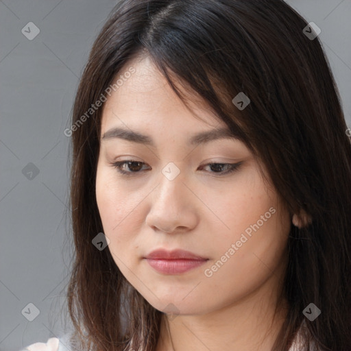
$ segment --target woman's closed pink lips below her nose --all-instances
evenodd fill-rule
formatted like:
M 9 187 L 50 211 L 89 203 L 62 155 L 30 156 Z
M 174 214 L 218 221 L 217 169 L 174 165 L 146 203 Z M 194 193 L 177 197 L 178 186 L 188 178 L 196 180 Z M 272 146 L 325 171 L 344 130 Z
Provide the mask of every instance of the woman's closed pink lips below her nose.
M 164 274 L 180 274 L 203 265 L 208 258 L 204 258 L 184 250 L 155 250 L 145 259 L 156 271 Z

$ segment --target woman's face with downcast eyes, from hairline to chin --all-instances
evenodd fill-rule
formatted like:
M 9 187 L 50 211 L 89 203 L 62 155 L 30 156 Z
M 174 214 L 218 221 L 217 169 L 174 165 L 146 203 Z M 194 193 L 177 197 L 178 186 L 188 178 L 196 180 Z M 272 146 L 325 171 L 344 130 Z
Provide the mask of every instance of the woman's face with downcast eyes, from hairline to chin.
M 108 97 L 101 121 L 96 196 L 105 250 L 166 313 L 209 313 L 276 291 L 291 217 L 258 162 L 237 139 L 204 136 L 226 124 L 198 99 L 191 108 L 202 120 L 195 118 L 148 58 L 121 74 L 131 66 L 135 72 Z M 147 258 L 158 249 L 203 259 Z

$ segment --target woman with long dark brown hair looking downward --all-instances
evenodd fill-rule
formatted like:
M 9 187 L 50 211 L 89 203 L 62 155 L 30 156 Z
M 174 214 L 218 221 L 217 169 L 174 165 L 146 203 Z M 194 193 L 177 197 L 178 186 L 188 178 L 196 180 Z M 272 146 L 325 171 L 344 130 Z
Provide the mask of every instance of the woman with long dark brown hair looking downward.
M 65 131 L 71 350 L 351 350 L 350 139 L 317 34 L 280 0 L 114 8 Z

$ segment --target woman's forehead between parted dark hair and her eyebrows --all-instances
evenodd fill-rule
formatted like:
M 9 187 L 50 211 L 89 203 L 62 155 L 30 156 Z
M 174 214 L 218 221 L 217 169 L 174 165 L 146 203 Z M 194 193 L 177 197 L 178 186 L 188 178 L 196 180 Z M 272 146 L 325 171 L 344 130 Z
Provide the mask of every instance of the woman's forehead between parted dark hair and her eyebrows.
M 125 74 L 131 70 L 133 73 Z M 126 120 L 144 126 L 164 123 L 167 127 L 169 121 L 177 121 L 183 125 L 186 123 L 186 128 L 226 127 L 204 99 L 181 88 L 187 108 L 148 56 L 127 62 L 113 82 L 117 80 L 121 85 L 112 90 L 104 104 L 101 132 Z M 180 86 L 178 82 L 175 83 Z

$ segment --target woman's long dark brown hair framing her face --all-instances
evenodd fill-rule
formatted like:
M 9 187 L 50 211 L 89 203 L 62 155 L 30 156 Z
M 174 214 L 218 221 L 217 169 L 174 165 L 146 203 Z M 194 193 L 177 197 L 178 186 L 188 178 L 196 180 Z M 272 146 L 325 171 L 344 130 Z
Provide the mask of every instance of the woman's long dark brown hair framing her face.
M 75 261 L 67 295 L 77 349 L 120 351 L 133 341 L 134 350 L 154 351 L 160 336 L 162 312 L 109 250 L 92 244 L 104 231 L 95 198 L 102 107 L 89 109 L 143 54 L 184 102 L 176 82 L 239 130 L 291 213 L 313 219 L 291 225 L 289 313 L 272 350 L 288 350 L 302 322 L 319 348 L 351 350 L 351 147 L 328 60 L 306 25 L 282 0 L 123 0 L 112 10 L 82 75 L 70 132 Z M 232 102 L 241 92 L 250 98 L 244 110 Z M 322 311 L 313 322 L 302 313 L 311 302 Z

